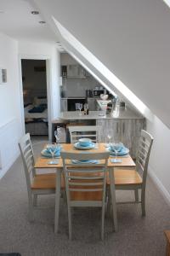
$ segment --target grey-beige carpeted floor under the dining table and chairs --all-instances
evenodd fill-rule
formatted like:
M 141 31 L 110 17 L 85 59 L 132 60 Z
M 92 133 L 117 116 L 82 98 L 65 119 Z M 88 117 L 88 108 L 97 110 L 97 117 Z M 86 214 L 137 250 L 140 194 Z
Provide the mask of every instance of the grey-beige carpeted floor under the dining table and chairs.
M 43 143 L 34 141 L 35 154 Z M 118 199 L 130 199 L 121 192 Z M 15 161 L 0 180 L 0 253 L 21 253 L 22 256 L 54 255 L 165 255 L 163 230 L 170 229 L 170 208 L 150 178 L 147 181 L 146 217 L 140 206 L 117 207 L 118 232 L 112 232 L 111 219 L 105 218 L 105 241 L 100 241 L 100 211 L 96 208 L 75 209 L 73 240 L 68 240 L 67 210 L 61 199 L 59 234 L 54 235 L 54 195 L 43 196 L 39 204 L 47 209 L 36 210 L 35 221 L 27 218 L 26 179 L 21 159 Z

